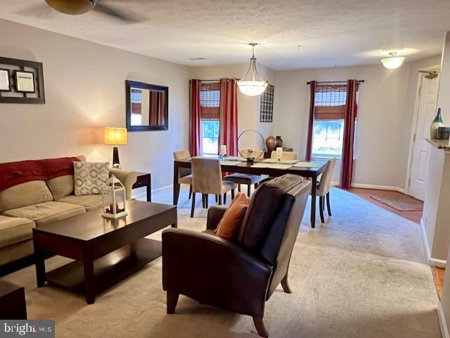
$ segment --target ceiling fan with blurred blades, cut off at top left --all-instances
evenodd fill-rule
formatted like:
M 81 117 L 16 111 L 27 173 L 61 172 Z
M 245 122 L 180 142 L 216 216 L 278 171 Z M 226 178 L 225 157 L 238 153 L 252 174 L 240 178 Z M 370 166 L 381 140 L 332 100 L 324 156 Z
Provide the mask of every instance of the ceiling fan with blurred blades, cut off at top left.
M 20 12 L 22 15 L 32 15 L 39 17 L 47 17 L 51 14 L 51 8 L 68 15 L 82 15 L 90 11 L 108 15 L 124 23 L 137 23 L 141 21 L 136 15 L 131 15 L 120 9 L 113 8 L 110 2 L 119 2 L 117 0 L 45 0 L 46 4 L 38 4 L 34 8 L 27 8 Z M 101 2 L 101 4 L 100 4 Z

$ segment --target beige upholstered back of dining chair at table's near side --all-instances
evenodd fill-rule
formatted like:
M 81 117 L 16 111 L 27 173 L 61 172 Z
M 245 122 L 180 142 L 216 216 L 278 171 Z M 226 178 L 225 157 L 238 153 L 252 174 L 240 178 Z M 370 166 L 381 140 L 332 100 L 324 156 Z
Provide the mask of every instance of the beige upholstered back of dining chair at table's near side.
M 193 157 L 192 191 L 202 194 L 221 194 L 222 170 L 217 158 Z

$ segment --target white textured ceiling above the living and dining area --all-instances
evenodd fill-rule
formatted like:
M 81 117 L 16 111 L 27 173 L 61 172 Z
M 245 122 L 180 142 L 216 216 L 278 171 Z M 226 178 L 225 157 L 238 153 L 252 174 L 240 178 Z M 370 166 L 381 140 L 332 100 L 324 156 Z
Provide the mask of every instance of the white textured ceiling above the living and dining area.
M 141 15 L 133 25 L 0 3 L 6 20 L 193 66 L 248 62 L 248 42 L 276 70 L 373 64 L 394 47 L 413 61 L 439 54 L 450 30 L 449 0 L 101 0 Z

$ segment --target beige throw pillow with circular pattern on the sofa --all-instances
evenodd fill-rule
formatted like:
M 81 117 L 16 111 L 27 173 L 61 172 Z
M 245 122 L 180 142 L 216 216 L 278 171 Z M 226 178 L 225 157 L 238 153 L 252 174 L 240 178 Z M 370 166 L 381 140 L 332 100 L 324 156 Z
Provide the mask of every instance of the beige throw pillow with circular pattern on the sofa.
M 74 162 L 75 195 L 101 194 L 101 188 L 109 178 L 108 162 Z

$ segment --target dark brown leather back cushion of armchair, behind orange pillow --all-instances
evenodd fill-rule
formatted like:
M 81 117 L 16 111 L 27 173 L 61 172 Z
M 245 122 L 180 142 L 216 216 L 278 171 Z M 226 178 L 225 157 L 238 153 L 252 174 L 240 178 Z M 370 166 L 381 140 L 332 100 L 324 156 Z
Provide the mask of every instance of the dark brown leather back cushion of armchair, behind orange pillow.
M 238 242 L 250 250 L 261 249 L 276 215 L 281 210 L 285 194 L 303 178 L 286 174 L 263 183 L 250 200 L 240 227 Z

